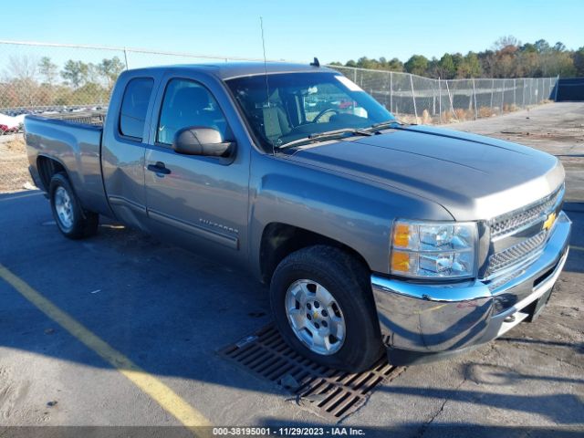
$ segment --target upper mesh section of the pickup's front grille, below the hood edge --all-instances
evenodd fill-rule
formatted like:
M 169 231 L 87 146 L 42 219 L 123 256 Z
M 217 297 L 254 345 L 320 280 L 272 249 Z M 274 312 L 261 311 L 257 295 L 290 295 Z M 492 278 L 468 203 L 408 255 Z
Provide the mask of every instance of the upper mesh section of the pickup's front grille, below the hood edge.
M 495 217 L 489 223 L 491 228 L 491 238 L 501 238 L 505 235 L 512 235 L 517 231 L 527 228 L 531 224 L 537 223 L 542 216 L 554 209 L 554 206 L 561 201 L 564 195 L 564 185 L 542 200 L 522 208 L 519 211 L 503 214 Z

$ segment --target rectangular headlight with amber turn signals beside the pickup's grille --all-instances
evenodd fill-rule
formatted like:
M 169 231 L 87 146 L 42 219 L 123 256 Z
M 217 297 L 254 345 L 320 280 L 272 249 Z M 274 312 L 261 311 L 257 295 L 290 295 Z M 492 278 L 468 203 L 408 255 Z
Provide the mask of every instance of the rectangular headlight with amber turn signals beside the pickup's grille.
M 391 234 L 391 274 L 416 278 L 474 276 L 474 222 L 398 220 Z

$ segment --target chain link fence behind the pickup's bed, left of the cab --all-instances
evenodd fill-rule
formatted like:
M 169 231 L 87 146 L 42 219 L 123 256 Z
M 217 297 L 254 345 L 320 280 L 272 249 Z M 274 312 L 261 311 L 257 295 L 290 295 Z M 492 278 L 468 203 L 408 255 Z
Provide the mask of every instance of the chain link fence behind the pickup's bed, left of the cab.
M 21 134 L 26 114 L 106 110 L 126 68 L 238 60 L 261 59 L 0 41 L 0 193 L 32 184 Z

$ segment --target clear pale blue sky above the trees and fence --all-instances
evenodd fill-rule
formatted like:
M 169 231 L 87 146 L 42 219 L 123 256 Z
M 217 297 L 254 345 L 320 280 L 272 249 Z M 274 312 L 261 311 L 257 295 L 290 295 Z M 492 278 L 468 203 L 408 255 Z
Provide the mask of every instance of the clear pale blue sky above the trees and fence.
M 480 51 L 500 36 L 584 46 L 582 0 L 26 0 L 0 39 L 322 63 Z M 1 50 L 1 47 L 0 47 Z

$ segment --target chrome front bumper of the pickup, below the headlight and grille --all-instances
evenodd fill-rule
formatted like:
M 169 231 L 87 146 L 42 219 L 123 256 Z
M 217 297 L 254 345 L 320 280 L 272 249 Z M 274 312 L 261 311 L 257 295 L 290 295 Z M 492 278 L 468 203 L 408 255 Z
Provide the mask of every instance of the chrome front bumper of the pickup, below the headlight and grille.
M 450 285 L 371 276 L 381 333 L 391 349 L 454 352 L 495 339 L 530 316 L 568 257 L 571 222 L 558 214 L 544 252 L 531 265 L 492 281 Z M 515 318 L 510 318 L 515 317 Z

